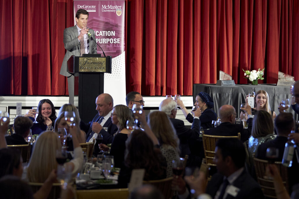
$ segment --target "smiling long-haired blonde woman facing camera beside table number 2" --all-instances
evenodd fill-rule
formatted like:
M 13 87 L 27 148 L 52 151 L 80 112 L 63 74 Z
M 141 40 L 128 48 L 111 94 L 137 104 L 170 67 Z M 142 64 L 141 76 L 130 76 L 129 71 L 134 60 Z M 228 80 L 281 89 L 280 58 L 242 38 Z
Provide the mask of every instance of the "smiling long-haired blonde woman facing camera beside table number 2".
M 246 99 L 245 99 L 246 104 L 248 103 L 247 97 L 248 96 L 246 96 Z M 264 90 L 257 91 L 257 93 L 254 97 L 254 108 L 251 109 L 252 115 L 255 115 L 256 112 L 259 110 L 267 111 L 272 116 L 272 119 L 276 118 L 276 113 L 274 111 L 271 111 L 271 109 L 270 109 L 269 95 Z M 244 116 L 245 116 L 245 119 L 247 119 L 247 114 L 243 115 L 243 113 L 241 112 L 241 114 L 240 114 L 241 120 L 244 118 Z

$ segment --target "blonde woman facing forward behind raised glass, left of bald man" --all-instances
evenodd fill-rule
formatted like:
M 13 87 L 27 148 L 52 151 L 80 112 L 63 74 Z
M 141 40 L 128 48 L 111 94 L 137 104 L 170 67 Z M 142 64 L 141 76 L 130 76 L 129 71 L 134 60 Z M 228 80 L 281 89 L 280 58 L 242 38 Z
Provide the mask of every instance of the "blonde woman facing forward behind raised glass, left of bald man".
M 75 123 L 75 129 L 76 129 L 76 135 L 78 138 L 79 143 L 86 143 L 86 134 L 84 131 L 82 131 L 80 129 L 80 116 L 79 116 L 79 111 L 78 109 L 73 105 L 73 104 L 64 104 L 58 112 L 58 117 L 55 121 L 54 124 L 54 131 L 58 132 L 58 128 L 65 128 L 66 131 L 69 131 L 69 126 L 66 123 L 65 119 L 64 119 L 64 112 L 65 111 L 72 111 L 75 113 L 75 118 L 74 118 L 74 123 Z

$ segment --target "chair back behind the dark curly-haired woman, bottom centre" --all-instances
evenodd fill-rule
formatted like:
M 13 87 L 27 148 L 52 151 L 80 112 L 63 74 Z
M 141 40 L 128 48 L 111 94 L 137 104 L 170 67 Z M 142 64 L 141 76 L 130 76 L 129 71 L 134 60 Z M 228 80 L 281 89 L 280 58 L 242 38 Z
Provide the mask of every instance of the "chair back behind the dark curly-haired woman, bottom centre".
M 171 189 L 172 179 L 173 177 L 161 180 L 143 181 L 143 184 L 151 184 L 152 186 L 157 187 L 157 189 L 160 190 L 164 198 L 169 199 L 173 196 L 173 190 Z

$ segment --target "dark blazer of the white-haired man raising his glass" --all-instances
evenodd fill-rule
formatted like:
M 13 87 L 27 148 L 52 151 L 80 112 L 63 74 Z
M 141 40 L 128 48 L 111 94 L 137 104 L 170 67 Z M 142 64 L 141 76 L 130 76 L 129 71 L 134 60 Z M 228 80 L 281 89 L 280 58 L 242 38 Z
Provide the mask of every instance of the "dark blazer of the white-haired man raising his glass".
M 185 127 L 184 121 L 182 120 L 170 118 L 170 121 L 176 129 L 176 135 L 180 140 L 180 156 L 184 157 L 185 155 L 189 155 L 191 152 L 188 140 L 196 140 L 199 138 L 200 120 L 194 119 L 191 129 Z

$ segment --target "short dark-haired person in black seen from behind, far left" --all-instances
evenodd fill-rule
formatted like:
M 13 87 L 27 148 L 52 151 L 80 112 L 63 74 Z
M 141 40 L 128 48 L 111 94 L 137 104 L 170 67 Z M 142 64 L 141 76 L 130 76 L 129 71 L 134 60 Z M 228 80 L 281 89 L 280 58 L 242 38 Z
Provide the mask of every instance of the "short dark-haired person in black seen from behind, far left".
M 15 133 L 6 136 L 7 145 L 21 145 L 28 144 L 24 138 L 30 133 L 30 128 L 33 126 L 32 121 L 28 117 L 18 116 L 13 122 Z

